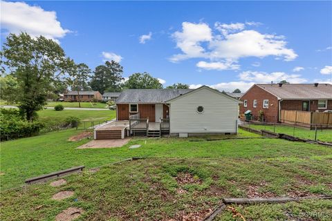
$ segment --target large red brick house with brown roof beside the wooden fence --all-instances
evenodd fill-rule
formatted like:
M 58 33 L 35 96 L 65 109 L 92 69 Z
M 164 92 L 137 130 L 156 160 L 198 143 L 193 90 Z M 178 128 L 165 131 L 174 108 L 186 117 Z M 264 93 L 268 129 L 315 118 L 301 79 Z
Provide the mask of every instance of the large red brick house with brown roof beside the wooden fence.
M 250 110 L 258 119 L 263 111 L 264 121 L 279 122 L 281 110 L 332 110 L 332 84 L 254 84 L 240 99 L 240 114 Z

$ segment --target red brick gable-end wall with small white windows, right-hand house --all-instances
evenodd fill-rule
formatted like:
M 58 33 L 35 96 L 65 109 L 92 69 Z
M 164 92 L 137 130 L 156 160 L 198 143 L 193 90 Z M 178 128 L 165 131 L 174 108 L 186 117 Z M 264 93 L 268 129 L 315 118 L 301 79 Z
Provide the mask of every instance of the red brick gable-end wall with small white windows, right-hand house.
M 254 119 L 258 119 L 258 112 L 263 111 L 266 122 L 278 121 L 278 99 L 274 95 L 271 95 L 266 90 L 259 88 L 259 86 L 253 86 L 248 90 L 246 95 L 241 97 L 241 101 L 247 100 L 247 107 L 240 104 L 240 114 L 245 113 L 247 110 L 252 111 Z M 257 108 L 253 107 L 254 99 L 257 100 Z M 268 99 L 268 108 L 263 108 L 263 100 Z

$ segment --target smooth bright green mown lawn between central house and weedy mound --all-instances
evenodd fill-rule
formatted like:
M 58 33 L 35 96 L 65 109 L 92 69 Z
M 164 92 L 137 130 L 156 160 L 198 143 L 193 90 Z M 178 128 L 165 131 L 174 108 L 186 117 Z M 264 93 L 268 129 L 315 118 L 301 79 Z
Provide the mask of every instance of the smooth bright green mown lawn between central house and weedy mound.
M 28 177 L 43 175 L 73 166 L 84 165 L 87 169 L 109 164 L 128 157 L 229 157 L 268 159 L 273 157 L 331 156 L 332 149 L 301 142 L 279 139 L 248 139 L 190 142 L 192 138 L 134 138 L 121 148 L 76 149 L 89 142 L 68 142 L 68 137 L 82 133 L 66 130 L 22 138 L 1 143 L 1 188 L 8 189 L 24 183 Z M 242 130 L 234 137 L 248 136 Z M 140 148 L 129 149 L 133 144 Z M 323 162 L 329 160 L 322 158 Z M 331 162 L 331 161 L 329 161 Z

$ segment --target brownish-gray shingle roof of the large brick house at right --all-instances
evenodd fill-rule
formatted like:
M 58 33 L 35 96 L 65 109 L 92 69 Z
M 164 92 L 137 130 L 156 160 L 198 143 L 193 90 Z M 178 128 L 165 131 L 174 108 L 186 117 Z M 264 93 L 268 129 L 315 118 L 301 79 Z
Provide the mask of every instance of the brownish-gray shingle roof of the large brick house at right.
M 332 99 L 332 84 L 257 84 L 280 99 Z

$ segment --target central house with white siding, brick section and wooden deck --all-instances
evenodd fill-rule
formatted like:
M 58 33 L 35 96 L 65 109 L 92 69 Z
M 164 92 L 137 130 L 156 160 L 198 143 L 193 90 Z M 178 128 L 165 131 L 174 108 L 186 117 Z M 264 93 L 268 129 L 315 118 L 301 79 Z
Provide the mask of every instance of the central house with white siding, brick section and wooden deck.
M 116 99 L 116 121 L 96 128 L 95 139 L 234 134 L 239 104 L 238 99 L 208 86 L 128 89 Z

